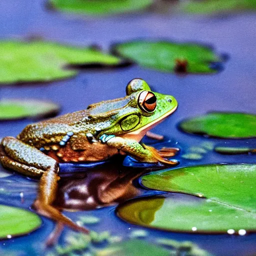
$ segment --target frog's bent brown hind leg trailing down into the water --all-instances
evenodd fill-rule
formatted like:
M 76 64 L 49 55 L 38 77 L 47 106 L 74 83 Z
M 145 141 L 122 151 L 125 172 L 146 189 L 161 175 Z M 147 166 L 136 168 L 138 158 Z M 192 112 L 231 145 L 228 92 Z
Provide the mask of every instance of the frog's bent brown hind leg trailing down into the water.
M 58 163 L 53 158 L 14 137 L 4 137 L 0 141 L 0 162 L 4 167 L 24 175 L 41 176 L 38 195 L 33 203 L 39 214 L 60 221 L 74 230 L 88 232 L 86 228 L 76 225 L 51 205 L 59 180 Z

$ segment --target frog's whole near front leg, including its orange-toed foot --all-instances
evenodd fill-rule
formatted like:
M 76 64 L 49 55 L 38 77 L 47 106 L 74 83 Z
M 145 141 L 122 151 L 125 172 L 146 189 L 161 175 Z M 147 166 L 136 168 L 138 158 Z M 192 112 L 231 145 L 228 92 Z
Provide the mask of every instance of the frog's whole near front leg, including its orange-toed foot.
M 135 159 L 143 162 L 162 162 L 166 164 L 177 164 L 177 160 L 166 160 L 163 157 L 174 155 L 173 152 L 171 154 L 164 153 L 161 154 L 160 151 L 155 149 L 152 146 L 141 145 L 136 140 L 133 139 L 125 139 L 122 137 L 116 137 L 114 135 L 102 135 L 100 140 L 103 143 L 106 143 L 108 146 L 115 147 L 131 156 Z

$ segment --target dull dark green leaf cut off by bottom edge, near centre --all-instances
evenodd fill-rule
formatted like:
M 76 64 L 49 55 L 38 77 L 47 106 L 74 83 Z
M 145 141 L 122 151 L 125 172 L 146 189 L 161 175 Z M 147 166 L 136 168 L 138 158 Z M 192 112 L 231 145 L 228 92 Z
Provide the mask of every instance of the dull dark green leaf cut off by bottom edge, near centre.
M 97 256 L 168 256 L 168 250 L 143 240 L 132 239 L 113 243 L 105 249 L 98 250 Z

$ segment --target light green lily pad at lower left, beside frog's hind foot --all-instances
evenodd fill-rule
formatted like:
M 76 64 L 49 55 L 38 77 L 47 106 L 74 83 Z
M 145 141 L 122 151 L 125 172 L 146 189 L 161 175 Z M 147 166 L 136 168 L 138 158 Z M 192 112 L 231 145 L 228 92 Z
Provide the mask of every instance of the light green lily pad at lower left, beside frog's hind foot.
M 0 204 L 0 239 L 30 233 L 40 225 L 41 219 L 35 213 Z

